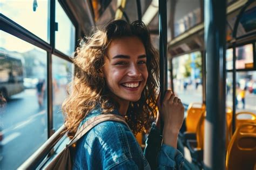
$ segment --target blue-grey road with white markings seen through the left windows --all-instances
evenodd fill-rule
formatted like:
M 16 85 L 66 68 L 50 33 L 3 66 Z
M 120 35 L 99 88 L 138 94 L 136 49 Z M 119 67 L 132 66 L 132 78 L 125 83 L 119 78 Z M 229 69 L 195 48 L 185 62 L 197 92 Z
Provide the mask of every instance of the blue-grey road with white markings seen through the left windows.
M 55 126 L 63 123 L 53 114 Z M 59 119 L 59 120 L 56 120 Z M 35 89 L 12 96 L 1 113 L 0 169 L 17 169 L 48 138 L 46 105 L 39 108 Z

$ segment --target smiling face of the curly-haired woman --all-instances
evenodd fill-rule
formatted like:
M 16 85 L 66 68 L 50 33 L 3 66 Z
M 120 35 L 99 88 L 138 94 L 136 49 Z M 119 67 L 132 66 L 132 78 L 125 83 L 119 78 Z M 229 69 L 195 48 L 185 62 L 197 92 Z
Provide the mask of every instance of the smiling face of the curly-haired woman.
M 138 37 L 113 39 L 104 57 L 107 87 L 119 104 L 138 101 L 147 81 L 146 51 Z

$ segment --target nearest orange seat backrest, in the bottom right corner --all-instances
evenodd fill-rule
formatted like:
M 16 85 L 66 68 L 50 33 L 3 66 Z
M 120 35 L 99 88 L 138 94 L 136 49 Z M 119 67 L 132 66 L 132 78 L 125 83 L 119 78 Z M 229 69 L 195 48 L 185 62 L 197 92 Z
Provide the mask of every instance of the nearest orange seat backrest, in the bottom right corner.
M 253 127 L 253 132 L 244 132 Z M 235 130 L 226 154 L 226 169 L 253 169 L 256 162 L 256 124 L 242 124 Z

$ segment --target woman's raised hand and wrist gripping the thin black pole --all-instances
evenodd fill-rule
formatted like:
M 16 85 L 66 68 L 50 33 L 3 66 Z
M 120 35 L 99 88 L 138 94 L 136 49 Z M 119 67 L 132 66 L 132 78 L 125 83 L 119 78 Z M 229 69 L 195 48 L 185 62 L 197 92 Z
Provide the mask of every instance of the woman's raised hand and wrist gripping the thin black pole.
M 163 138 L 164 144 L 177 147 L 177 138 L 179 130 L 184 120 L 184 106 L 181 100 L 173 94 L 171 90 L 167 90 L 160 104 L 158 97 L 157 127 L 160 127 L 160 117 L 164 120 Z

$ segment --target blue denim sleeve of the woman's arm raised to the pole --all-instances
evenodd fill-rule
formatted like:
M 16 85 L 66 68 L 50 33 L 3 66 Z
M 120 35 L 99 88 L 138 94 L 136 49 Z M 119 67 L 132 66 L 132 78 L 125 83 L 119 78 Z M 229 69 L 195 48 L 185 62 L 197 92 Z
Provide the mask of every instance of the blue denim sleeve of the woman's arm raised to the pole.
M 153 123 L 146 140 L 144 155 L 151 169 L 181 169 L 184 164 L 183 155 L 168 145 L 161 145 L 160 130 Z

